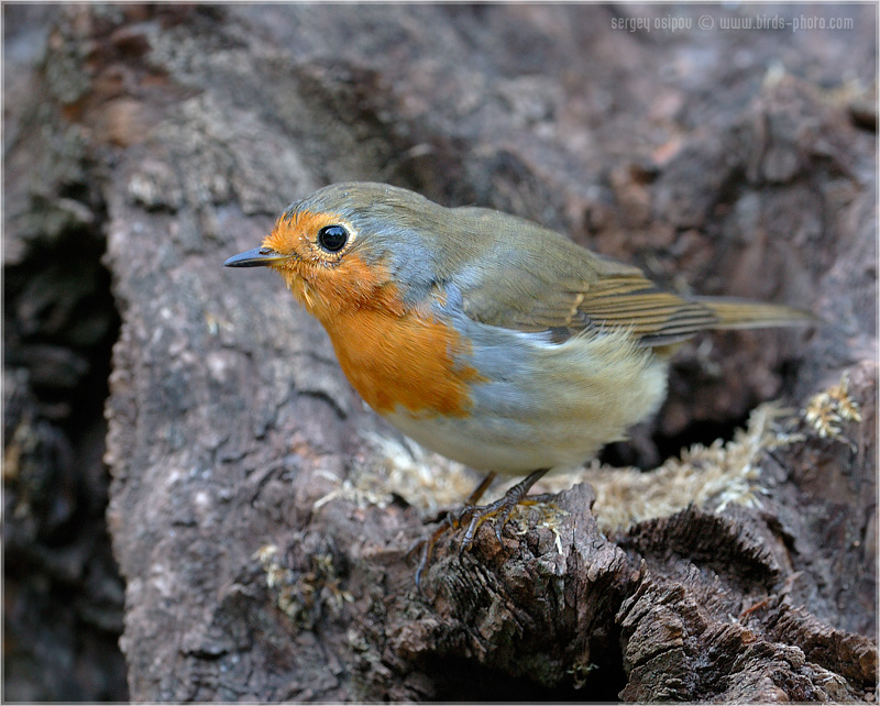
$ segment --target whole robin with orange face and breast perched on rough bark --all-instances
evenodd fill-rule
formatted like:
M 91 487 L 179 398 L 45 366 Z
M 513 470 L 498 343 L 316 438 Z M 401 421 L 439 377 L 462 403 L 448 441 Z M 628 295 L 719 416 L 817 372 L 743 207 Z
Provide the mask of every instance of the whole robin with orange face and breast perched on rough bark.
M 548 471 L 574 467 L 653 415 L 676 346 L 706 329 L 806 324 L 792 307 L 686 298 L 527 220 L 444 208 L 385 184 L 292 203 L 228 267 L 271 267 L 323 324 L 352 386 L 420 444 L 487 473 L 424 542 L 501 530 Z M 497 473 L 526 475 L 477 506 Z

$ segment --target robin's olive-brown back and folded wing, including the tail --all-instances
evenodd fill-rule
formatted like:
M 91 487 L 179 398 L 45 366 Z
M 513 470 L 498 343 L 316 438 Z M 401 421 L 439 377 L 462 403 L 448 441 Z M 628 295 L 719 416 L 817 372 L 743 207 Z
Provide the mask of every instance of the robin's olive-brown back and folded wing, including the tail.
M 706 329 L 791 326 L 815 318 L 791 307 L 689 299 L 660 289 L 638 267 L 592 253 L 558 233 L 507 217 L 519 246 L 503 246 L 497 214 L 463 209 L 497 249 L 458 271 L 464 312 L 476 321 L 519 331 L 548 331 L 562 341 L 583 331 L 619 328 L 640 345 L 662 346 Z

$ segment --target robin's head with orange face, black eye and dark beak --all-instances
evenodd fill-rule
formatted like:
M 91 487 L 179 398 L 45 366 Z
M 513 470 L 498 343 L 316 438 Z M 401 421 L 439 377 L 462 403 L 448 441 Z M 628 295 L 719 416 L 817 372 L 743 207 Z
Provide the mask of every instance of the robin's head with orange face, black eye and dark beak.
M 322 321 L 361 307 L 405 308 L 436 279 L 425 234 L 437 232 L 441 211 L 385 184 L 336 184 L 292 203 L 260 247 L 224 265 L 271 267 Z

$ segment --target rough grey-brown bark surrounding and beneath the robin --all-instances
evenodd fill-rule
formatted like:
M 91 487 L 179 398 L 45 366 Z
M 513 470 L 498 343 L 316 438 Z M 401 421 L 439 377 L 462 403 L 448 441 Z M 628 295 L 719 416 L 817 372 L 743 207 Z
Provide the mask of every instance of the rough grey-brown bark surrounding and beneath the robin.
M 876 13 L 722 31 L 756 10 L 4 5 L 7 696 L 872 701 Z M 604 456 L 649 468 L 781 398 L 759 501 L 613 531 L 578 484 L 503 545 L 444 538 L 417 595 L 432 514 L 363 478 L 426 462 L 380 451 L 405 446 L 279 279 L 220 266 L 351 179 L 822 316 L 689 343 Z

